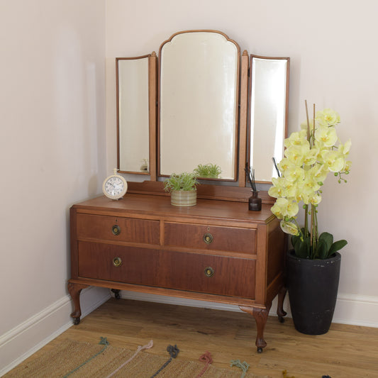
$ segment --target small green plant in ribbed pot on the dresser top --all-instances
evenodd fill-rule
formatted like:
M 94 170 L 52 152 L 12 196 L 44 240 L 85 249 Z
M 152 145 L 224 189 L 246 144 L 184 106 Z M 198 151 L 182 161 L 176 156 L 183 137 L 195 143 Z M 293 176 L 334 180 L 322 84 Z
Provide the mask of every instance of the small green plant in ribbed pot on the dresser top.
M 171 204 L 174 206 L 194 206 L 197 203 L 196 175 L 194 172 L 172 173 L 165 180 L 164 189 L 171 194 Z

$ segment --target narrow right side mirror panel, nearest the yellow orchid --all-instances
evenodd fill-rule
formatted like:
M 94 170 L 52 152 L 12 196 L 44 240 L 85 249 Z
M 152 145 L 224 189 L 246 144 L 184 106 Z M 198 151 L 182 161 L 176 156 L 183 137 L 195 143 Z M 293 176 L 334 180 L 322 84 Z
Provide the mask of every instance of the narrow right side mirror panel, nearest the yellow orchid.
M 250 67 L 250 165 L 257 182 L 271 182 L 277 177 L 272 158 L 284 156 L 289 58 L 251 55 Z

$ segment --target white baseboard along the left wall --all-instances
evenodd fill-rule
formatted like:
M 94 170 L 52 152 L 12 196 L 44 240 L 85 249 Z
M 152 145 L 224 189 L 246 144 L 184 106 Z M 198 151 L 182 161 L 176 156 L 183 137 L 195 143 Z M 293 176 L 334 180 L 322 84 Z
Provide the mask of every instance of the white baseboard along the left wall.
M 110 298 L 109 289 L 89 287 L 80 294 L 82 318 Z M 69 295 L 0 336 L 0 377 L 72 326 Z

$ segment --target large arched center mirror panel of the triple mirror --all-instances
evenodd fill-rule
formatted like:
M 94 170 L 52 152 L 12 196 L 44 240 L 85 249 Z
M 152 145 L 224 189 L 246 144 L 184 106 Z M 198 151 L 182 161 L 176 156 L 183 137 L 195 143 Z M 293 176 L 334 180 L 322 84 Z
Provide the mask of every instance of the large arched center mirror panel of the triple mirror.
M 238 45 L 223 33 L 195 30 L 172 35 L 159 55 L 160 176 L 196 170 L 235 181 Z M 209 165 L 218 172 L 209 174 Z

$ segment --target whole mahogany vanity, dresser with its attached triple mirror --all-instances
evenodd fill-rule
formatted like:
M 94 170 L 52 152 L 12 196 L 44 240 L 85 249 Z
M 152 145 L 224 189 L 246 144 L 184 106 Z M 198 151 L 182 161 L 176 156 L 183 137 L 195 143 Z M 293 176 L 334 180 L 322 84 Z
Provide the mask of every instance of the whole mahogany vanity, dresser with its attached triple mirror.
M 286 315 L 287 243 L 267 192 L 261 211 L 248 210 L 244 169 L 271 182 L 272 157 L 282 159 L 289 57 L 240 55 L 216 30 L 175 33 L 158 55 L 116 58 L 117 168 L 148 177 L 119 201 L 72 206 L 71 315 L 78 324 L 89 286 L 233 304 L 254 316 L 262 352 L 277 294 Z M 196 206 L 172 206 L 162 179 L 208 163 L 221 174 L 196 173 L 206 180 Z

